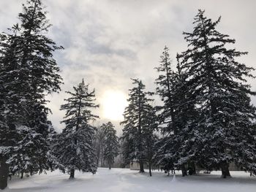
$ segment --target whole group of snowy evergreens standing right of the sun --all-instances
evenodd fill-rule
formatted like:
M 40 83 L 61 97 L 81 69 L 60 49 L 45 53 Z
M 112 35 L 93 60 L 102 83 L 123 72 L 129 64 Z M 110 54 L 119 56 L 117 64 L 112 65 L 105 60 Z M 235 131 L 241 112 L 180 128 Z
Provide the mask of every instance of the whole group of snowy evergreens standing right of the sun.
M 255 92 L 246 83 L 253 68 L 236 60 L 246 52 L 230 48 L 235 39 L 217 31 L 219 21 L 199 10 L 194 31 L 184 33 L 188 49 L 177 55 L 176 69 L 165 47 L 156 80 L 162 106 L 151 107 L 147 96 L 152 93 L 133 80 L 136 86 L 121 123 L 123 153 L 128 162 L 140 164 L 140 172 L 143 163 L 150 167 L 153 160 L 167 172 L 181 169 L 183 175 L 200 167 L 221 169 L 227 177 L 231 162 L 256 174 L 256 108 L 250 103 Z M 157 127 L 161 135 L 151 146 Z

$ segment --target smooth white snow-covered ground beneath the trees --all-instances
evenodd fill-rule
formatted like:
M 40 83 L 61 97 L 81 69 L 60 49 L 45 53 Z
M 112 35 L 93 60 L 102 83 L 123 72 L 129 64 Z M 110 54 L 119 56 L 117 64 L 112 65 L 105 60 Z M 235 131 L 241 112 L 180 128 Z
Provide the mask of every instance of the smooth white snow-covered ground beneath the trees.
M 69 180 L 69 175 L 59 171 L 48 174 L 25 177 L 23 180 L 13 178 L 9 188 L 5 191 L 29 192 L 80 192 L 80 191 L 256 191 L 256 177 L 249 177 L 244 172 L 231 172 L 231 178 L 220 178 L 220 172 L 211 174 L 198 174 L 196 176 L 181 177 L 178 172 L 176 177 L 167 177 L 164 172 L 153 172 L 153 177 L 148 173 L 140 174 L 129 169 L 104 169 L 99 168 L 97 174 L 75 172 L 75 180 Z

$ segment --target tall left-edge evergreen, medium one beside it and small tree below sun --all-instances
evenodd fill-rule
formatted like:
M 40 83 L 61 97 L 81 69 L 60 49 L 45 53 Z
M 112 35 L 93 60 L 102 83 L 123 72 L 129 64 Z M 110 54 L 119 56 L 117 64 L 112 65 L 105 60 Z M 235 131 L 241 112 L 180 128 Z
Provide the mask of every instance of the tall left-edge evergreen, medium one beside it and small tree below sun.
M 48 114 L 45 96 L 60 91 L 59 66 L 53 52 L 63 49 L 45 36 L 50 24 L 40 0 L 23 4 L 19 24 L 10 33 L 0 34 L 0 188 L 7 187 L 7 177 L 32 175 L 45 170 L 61 169 L 97 171 L 94 138 L 96 128 L 90 121 L 94 91 L 82 81 L 61 110 L 66 127 L 56 134 Z M 113 125 L 105 126 L 105 158 L 109 167 L 118 152 Z

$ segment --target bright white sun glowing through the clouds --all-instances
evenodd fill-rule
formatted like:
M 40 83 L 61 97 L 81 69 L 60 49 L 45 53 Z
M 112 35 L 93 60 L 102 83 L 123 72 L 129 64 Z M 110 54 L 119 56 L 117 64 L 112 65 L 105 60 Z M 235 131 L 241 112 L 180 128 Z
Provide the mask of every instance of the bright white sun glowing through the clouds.
M 123 120 L 127 98 L 121 91 L 105 91 L 102 96 L 103 117 L 109 120 Z

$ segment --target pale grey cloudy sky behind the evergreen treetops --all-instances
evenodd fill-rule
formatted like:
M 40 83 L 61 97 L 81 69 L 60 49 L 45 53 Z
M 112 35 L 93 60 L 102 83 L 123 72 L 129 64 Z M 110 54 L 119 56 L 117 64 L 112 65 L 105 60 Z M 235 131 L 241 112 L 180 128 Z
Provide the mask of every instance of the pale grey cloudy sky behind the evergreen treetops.
M 24 2 L 0 1 L 0 31 L 7 31 L 18 22 Z M 105 115 L 106 107 L 111 108 L 111 102 L 118 106 L 125 104 L 132 88 L 130 78 L 143 80 L 148 91 L 155 91 L 154 67 L 159 65 L 163 48 L 169 47 L 175 67 L 176 53 L 187 49 L 182 32 L 192 32 L 197 9 L 205 9 L 206 16 L 213 20 L 221 15 L 217 30 L 236 39 L 237 50 L 249 52 L 239 61 L 255 66 L 255 0 L 42 0 L 42 3 L 53 24 L 47 35 L 64 47 L 53 53 L 64 85 L 60 93 L 48 96 L 48 107 L 53 112 L 50 120 L 57 131 L 64 127 L 59 123 L 64 117 L 59 108 L 67 98 L 64 91 L 72 91 L 72 86 L 84 78 L 89 88 L 95 88 L 96 102 L 100 105 L 95 110 L 100 120 L 94 126 L 111 120 L 121 133 L 120 107 L 116 110 L 118 120 Z M 256 91 L 256 80 L 248 81 Z M 252 103 L 256 105 L 256 98 L 252 98 Z

